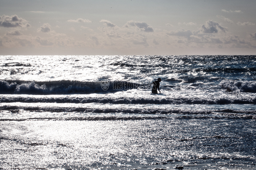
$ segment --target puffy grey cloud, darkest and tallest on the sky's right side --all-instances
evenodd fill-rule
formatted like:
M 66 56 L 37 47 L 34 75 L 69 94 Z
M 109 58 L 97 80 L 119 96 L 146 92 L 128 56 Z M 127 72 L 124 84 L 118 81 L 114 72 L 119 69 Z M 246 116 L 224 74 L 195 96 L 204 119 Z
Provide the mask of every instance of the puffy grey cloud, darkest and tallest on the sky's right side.
M 207 21 L 206 25 L 202 25 L 202 32 L 206 34 L 218 33 L 219 30 L 226 32 L 227 28 L 222 27 L 219 23 L 212 20 Z

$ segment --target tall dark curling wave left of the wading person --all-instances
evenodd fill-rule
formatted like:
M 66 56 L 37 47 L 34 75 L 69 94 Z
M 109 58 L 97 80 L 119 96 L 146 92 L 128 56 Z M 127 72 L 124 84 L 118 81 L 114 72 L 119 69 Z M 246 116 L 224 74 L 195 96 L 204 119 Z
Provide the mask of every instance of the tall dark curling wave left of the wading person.
M 0 94 L 84 94 L 128 90 L 142 86 L 144 85 L 126 81 L 82 82 L 59 80 L 36 82 L 0 80 Z

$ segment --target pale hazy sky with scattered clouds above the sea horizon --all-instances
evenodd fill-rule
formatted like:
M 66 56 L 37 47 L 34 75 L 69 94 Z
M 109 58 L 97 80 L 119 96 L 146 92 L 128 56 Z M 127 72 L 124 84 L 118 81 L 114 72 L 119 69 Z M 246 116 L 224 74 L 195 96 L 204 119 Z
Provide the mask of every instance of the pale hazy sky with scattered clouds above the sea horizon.
M 256 55 L 255 0 L 0 0 L 0 55 Z

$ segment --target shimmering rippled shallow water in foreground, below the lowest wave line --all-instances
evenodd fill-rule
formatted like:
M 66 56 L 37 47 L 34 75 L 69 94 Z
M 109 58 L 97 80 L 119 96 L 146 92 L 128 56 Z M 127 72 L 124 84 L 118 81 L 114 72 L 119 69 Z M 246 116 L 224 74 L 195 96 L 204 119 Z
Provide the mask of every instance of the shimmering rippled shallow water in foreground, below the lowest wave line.
M 97 118 L 2 122 L 1 134 L 8 136 L 0 144 L 2 167 L 255 167 L 254 120 L 175 114 Z

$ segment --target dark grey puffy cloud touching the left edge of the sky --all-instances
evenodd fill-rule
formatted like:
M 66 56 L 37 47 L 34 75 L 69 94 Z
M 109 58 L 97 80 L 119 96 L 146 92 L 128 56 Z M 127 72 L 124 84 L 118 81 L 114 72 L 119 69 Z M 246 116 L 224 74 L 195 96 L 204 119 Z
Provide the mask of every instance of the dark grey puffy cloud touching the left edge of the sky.
M 11 27 L 30 27 L 31 25 L 27 20 L 19 18 L 17 15 L 2 15 L 0 16 L 0 26 Z

